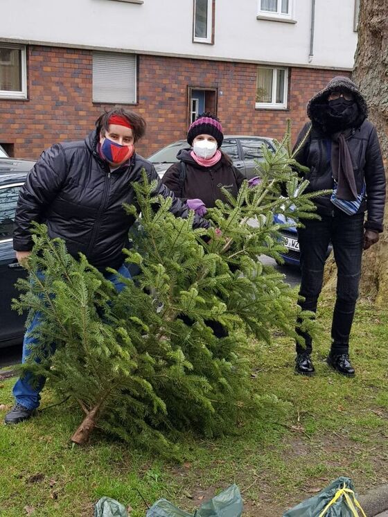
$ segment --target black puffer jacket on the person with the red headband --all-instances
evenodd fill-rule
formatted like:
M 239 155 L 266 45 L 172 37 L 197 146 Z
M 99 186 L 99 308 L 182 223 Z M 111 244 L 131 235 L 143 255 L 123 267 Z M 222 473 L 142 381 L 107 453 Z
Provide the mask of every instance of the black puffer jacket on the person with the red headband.
M 48 235 L 63 238 L 71 255 L 82 252 L 100 271 L 119 268 L 134 223 L 123 203 L 136 204 L 132 182 L 141 181 L 143 168 L 149 180 L 158 180 L 155 194 L 173 198 L 171 212 L 188 215 L 186 205 L 161 184 L 149 161 L 134 154 L 129 164 L 111 172 L 98 155 L 97 142 L 94 131 L 85 141 L 57 143 L 42 152 L 19 194 L 15 250 L 32 249 L 30 224 L 44 222 Z M 209 222 L 195 218 L 195 226 L 208 227 Z

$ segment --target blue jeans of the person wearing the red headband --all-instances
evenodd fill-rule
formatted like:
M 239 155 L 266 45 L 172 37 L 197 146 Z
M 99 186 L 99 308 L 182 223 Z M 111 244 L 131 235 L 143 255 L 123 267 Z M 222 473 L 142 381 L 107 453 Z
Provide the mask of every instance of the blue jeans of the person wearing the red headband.
M 130 272 L 127 269 L 127 266 L 124 264 L 121 265 L 117 272 L 122 277 L 127 279 L 132 278 Z M 113 283 L 117 292 L 121 292 L 123 288 L 125 288 L 125 283 L 123 283 L 116 274 L 107 273 L 105 274 L 105 278 Z M 33 322 L 31 322 L 30 326 L 26 330 L 26 333 L 24 334 L 23 356 L 21 362 L 26 362 L 34 345 L 37 344 L 37 338 L 31 336 L 30 333 L 37 325 L 39 325 L 39 320 L 41 318 L 42 314 L 39 312 L 36 313 Z M 51 351 L 55 351 L 55 347 L 52 347 Z M 15 396 L 15 401 L 23 405 L 24 408 L 27 408 L 28 410 L 34 410 L 39 406 L 40 392 L 42 391 L 44 383 L 46 382 L 44 377 L 39 377 L 37 379 L 36 385 L 34 384 L 35 387 L 33 387 L 30 385 L 31 378 L 32 374 L 27 372 L 22 378 L 17 380 L 12 390 L 13 396 Z

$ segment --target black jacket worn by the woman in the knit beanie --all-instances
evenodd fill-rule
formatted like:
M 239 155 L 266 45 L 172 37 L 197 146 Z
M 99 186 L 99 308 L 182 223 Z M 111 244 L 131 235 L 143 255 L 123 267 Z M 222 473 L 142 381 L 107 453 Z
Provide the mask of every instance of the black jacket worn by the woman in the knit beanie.
M 168 189 L 172 190 L 182 200 L 200 199 L 205 207 L 215 207 L 215 200 L 224 201 L 221 189 L 227 189 L 235 196 L 243 183 L 245 176 L 222 155 L 220 161 L 212 167 L 202 167 L 191 157 L 191 149 L 182 149 L 177 154 L 179 161 L 166 170 L 161 180 Z M 180 161 L 186 164 L 186 177 L 183 189 L 179 182 L 181 173 Z

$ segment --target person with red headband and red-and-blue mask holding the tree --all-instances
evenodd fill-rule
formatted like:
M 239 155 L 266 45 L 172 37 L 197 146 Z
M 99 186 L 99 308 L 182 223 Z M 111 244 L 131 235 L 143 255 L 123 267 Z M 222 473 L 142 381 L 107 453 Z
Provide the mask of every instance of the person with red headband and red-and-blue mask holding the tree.
M 85 254 L 116 290 L 123 289 L 117 275 L 107 273 L 106 268 L 131 277 L 122 250 L 129 244 L 134 218 L 125 212 L 123 203 L 136 205 L 132 182 L 142 181 L 143 169 L 149 181 L 157 180 L 155 195 L 173 198 L 170 211 L 188 216 L 186 204 L 161 184 L 154 166 L 134 151 L 144 132 L 141 116 L 116 108 L 98 118 L 96 130 L 85 141 L 57 143 L 42 153 L 17 204 L 13 245 L 19 262 L 27 260 L 33 248 L 31 222 L 44 222 L 48 235 L 64 239 L 72 256 Z M 209 222 L 195 216 L 194 226 L 209 227 Z M 31 331 L 38 324 L 39 314 L 26 331 L 23 360 L 36 342 Z M 6 423 L 18 423 L 33 414 L 43 385 L 44 379 L 38 385 L 30 383 L 29 375 L 17 380 L 13 389 L 16 405 L 6 415 Z

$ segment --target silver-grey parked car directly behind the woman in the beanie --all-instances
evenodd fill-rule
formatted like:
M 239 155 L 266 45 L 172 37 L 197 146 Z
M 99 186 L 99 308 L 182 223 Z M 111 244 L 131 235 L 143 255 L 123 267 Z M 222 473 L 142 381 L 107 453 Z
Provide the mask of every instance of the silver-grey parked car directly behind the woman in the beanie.
M 263 159 L 263 146 L 275 150 L 274 141 L 270 138 L 227 134 L 221 149 L 231 157 L 233 165 L 250 179 L 256 175 L 256 160 Z M 178 140 L 155 152 L 148 160 L 152 161 L 162 177 L 170 165 L 178 161 L 177 152 L 188 147 L 186 140 Z

